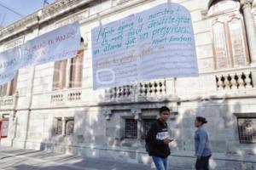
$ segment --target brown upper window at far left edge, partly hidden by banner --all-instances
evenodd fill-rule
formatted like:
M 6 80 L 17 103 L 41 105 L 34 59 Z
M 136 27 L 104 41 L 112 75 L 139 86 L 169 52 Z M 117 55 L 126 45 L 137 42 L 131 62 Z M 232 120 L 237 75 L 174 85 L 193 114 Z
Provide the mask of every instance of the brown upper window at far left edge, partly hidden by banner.
M 17 88 L 18 73 L 11 82 L 7 82 L 0 86 L 0 96 L 15 95 Z

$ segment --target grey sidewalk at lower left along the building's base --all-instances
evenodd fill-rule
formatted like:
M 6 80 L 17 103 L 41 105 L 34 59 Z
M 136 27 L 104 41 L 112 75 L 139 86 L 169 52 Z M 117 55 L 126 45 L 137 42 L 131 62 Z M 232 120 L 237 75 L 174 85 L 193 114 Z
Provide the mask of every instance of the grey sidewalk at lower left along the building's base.
M 0 147 L 0 170 L 150 170 L 143 164 Z

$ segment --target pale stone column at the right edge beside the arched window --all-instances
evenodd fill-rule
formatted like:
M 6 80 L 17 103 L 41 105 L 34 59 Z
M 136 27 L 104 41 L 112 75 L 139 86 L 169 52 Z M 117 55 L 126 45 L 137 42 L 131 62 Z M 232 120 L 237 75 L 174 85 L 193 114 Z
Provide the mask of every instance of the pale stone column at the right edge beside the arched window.
M 247 41 L 252 65 L 256 65 L 256 31 L 252 14 L 253 0 L 241 0 L 241 8 L 244 15 L 247 31 Z

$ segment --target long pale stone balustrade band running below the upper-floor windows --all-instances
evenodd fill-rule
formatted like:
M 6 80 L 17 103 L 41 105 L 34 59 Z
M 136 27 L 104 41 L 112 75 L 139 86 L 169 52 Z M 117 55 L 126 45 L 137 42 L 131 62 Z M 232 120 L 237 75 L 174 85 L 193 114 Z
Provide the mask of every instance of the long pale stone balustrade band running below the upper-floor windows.
M 34 108 L 74 105 L 119 105 L 139 102 L 177 102 L 179 99 L 222 98 L 224 95 L 256 94 L 252 67 L 212 71 L 200 77 L 159 79 L 127 86 L 92 90 L 91 88 L 63 89 L 33 95 Z M 256 69 L 256 68 L 255 68 Z M 255 81 L 255 80 L 254 80 Z M 255 92 L 255 93 L 254 93 Z M 3 101 L 2 101 L 3 102 Z M 8 100 L 5 101 L 8 103 Z

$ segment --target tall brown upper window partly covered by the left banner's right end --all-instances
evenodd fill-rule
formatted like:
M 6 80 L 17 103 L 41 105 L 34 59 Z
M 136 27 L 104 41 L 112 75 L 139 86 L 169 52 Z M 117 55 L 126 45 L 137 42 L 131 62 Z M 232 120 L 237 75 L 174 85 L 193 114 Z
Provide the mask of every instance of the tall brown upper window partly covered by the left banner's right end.
M 53 90 L 82 87 L 83 61 L 84 39 L 81 38 L 80 49 L 75 58 L 55 62 Z

